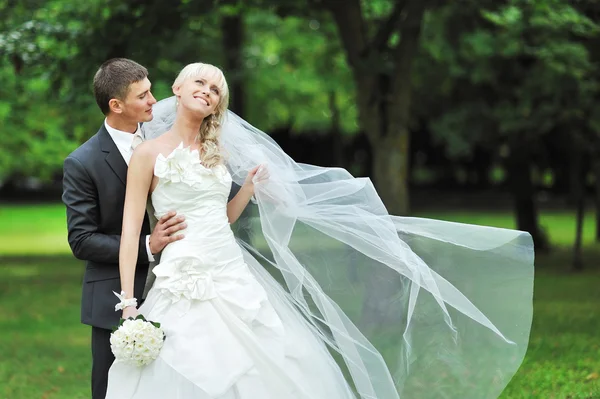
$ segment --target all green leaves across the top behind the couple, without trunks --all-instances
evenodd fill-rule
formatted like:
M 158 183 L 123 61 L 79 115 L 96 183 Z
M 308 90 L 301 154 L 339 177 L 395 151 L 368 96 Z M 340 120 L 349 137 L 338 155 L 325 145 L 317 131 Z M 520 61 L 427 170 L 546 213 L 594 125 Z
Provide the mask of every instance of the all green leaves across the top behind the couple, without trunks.
M 0 180 L 60 174 L 62 159 L 102 120 L 90 81 L 103 60 L 140 61 L 155 95 L 169 96 L 186 63 L 224 65 L 221 22 L 236 15 L 244 68 L 225 72 L 243 82 L 247 119 L 265 131 L 356 133 L 355 72 L 326 3 L 0 1 Z M 394 4 L 362 1 L 365 37 L 373 39 Z M 511 135 L 534 143 L 557 130 L 598 131 L 600 54 L 592 44 L 600 27 L 583 3 L 431 4 L 412 74 L 413 128 L 426 123 L 459 157 Z M 399 40 L 392 34 L 385 44 Z M 391 53 L 376 55 L 368 69 L 389 73 Z

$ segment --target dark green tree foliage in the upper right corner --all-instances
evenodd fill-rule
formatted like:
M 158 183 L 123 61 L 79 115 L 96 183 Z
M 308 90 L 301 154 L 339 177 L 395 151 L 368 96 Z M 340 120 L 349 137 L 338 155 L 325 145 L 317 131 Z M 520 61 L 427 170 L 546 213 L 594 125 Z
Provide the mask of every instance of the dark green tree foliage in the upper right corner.
M 596 22 L 560 0 L 459 7 L 428 15 L 416 79 L 417 112 L 451 154 L 583 121 L 599 84 L 585 45 Z

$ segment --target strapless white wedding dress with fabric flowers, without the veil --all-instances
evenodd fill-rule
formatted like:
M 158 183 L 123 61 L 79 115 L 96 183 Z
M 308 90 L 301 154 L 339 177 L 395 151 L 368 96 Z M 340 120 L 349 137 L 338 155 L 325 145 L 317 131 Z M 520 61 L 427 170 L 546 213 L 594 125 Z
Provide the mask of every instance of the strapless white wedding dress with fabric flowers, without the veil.
M 354 398 L 318 332 L 237 243 L 227 169 L 207 169 L 180 146 L 158 156 L 155 175 L 156 216 L 174 209 L 188 224 L 185 238 L 164 249 L 139 309 L 166 340 L 148 366 L 116 361 L 106 398 Z

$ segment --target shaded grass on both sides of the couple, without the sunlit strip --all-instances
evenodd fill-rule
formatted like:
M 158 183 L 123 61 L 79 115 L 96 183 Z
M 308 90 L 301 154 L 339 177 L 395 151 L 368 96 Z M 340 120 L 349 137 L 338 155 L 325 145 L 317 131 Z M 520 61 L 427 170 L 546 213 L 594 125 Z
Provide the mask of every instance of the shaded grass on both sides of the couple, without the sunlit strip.
M 600 398 L 600 273 L 549 266 L 536 276 L 527 357 L 502 399 Z M 83 263 L 69 256 L 0 258 L 0 397 L 89 397 L 82 274 Z

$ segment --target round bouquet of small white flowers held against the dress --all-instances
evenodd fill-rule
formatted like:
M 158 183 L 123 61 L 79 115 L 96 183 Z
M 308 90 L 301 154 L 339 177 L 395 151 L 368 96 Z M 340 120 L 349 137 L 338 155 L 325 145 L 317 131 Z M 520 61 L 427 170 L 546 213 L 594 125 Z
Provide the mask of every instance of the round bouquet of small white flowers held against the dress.
M 138 315 L 135 319 L 121 319 L 110 335 L 110 349 L 117 361 L 141 367 L 158 357 L 164 340 L 165 333 L 159 323 Z

